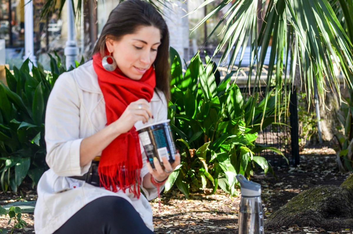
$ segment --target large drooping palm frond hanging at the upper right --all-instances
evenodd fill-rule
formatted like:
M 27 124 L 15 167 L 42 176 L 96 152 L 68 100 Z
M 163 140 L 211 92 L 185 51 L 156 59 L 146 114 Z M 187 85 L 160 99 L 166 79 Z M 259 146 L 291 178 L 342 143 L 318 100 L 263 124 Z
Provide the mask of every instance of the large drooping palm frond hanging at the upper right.
M 205 1 L 204 4 L 209 2 L 212 0 Z M 206 22 L 212 14 L 219 12 L 228 2 L 222 1 L 200 21 L 197 27 Z M 267 8 L 263 5 L 261 9 L 266 12 L 259 35 L 257 32 L 257 2 L 236 0 L 224 14 L 222 18 L 224 23 L 216 25 L 216 28 L 222 27 L 222 33 L 219 35 L 222 40 L 215 54 L 224 50 L 222 53 L 224 63 L 231 53 L 229 69 L 233 68 L 237 56 L 240 56 L 238 65 L 241 64 L 246 45 L 250 42 L 250 70 L 257 71 L 253 83 L 250 83 L 251 72 L 248 77 L 249 87 L 255 87 L 253 92 L 256 92 L 256 87 L 259 86 L 260 71 L 271 39 L 266 84 L 269 87 L 275 83 L 278 91 L 277 104 L 288 101 L 287 94 L 291 91 L 282 87 L 294 82 L 297 65 L 300 68 L 302 85 L 311 97 L 313 97 L 316 82 L 321 105 L 324 105 L 327 92 L 333 92 L 339 98 L 341 97 L 340 82 L 334 75 L 334 66 L 338 66 L 342 71 L 344 81 L 349 88 L 353 88 L 352 43 L 341 25 L 342 20 L 348 21 L 348 19 L 346 17 L 342 19 L 343 16 L 337 19 L 336 15 L 339 11 L 336 8 L 334 11 L 328 0 L 270 0 Z M 352 0 L 332 0 L 332 2 L 335 4 L 346 2 L 347 6 L 352 5 L 349 4 Z M 346 7 L 346 10 L 351 13 L 352 7 Z M 342 10 L 341 13 L 344 16 L 346 16 L 345 11 Z M 352 16 L 353 14 L 350 19 Z M 215 30 L 212 33 L 214 32 Z M 282 95 L 281 91 L 285 95 Z

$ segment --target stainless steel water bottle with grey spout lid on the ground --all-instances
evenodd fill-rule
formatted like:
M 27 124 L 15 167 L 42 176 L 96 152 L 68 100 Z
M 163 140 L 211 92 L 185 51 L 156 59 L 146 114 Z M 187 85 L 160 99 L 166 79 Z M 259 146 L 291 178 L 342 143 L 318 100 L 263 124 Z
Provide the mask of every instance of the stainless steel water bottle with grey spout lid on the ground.
M 263 234 L 261 185 L 248 181 L 241 174 L 236 177 L 241 186 L 238 234 Z

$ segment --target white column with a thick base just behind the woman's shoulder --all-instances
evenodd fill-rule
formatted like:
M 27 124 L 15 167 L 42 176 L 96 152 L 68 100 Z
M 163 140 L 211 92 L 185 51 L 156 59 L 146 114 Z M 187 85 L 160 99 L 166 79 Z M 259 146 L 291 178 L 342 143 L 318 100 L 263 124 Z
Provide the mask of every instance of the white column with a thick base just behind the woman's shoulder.
M 66 69 L 69 69 L 70 66 L 75 67 L 75 60 L 77 60 L 77 56 L 79 53 L 79 49 L 77 47 L 77 42 L 75 40 L 75 22 L 74 22 L 74 14 L 73 14 L 73 6 L 72 1 L 67 0 L 67 41 L 66 47 L 64 49 L 64 54 L 66 56 Z

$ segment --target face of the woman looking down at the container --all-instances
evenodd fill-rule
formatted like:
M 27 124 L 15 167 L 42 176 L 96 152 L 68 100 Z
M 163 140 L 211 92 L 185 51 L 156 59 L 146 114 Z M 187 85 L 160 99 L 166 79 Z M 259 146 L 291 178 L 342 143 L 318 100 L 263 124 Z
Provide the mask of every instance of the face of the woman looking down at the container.
M 139 27 L 136 33 L 126 34 L 119 41 L 106 40 L 118 68 L 132 80 L 140 80 L 152 66 L 160 44 L 161 33 L 154 26 Z

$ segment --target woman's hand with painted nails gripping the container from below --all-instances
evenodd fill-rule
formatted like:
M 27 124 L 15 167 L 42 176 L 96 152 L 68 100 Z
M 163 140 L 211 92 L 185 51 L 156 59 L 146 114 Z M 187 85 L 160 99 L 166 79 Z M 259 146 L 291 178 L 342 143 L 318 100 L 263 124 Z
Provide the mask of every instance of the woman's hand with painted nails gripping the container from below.
M 155 179 L 155 181 L 163 181 L 167 179 L 167 177 L 174 171 L 174 169 L 180 164 L 180 154 L 175 154 L 175 160 L 172 164 L 169 163 L 166 157 L 162 157 L 164 169 L 162 168 L 161 164 L 159 163 L 158 159 L 155 157 L 153 160 L 153 164 L 155 169 L 152 169 L 150 163 L 147 163 L 148 171 L 150 172 L 151 176 Z

